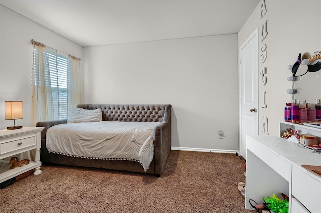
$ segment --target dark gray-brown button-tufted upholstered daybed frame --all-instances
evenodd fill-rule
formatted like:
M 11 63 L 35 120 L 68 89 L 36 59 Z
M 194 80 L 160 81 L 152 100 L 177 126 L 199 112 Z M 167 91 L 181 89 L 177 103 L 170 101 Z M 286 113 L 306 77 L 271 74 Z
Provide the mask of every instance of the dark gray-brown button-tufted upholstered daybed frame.
M 67 123 L 65 120 L 38 122 L 37 126 L 45 127 L 41 132 L 42 163 L 75 165 L 94 168 L 105 168 L 122 171 L 150 173 L 160 176 L 163 173 L 166 159 L 171 150 L 171 105 L 96 105 L 80 104 L 78 108 L 102 109 L 103 121 L 123 122 L 161 122 L 154 128 L 154 158 L 145 172 L 139 162 L 129 160 L 85 159 L 61 154 L 49 153 L 46 148 L 46 131 L 54 125 Z

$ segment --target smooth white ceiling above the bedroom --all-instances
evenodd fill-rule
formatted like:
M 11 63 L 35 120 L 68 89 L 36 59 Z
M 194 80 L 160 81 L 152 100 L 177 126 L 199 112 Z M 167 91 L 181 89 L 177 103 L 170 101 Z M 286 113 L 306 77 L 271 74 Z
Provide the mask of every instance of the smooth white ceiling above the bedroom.
M 87 47 L 237 33 L 259 0 L 0 0 Z

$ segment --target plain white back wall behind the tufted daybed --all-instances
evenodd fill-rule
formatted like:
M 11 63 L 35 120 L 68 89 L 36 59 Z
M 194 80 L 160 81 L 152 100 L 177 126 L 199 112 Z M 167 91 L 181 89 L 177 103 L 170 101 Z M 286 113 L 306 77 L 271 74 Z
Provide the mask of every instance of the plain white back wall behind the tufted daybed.
M 172 104 L 173 147 L 238 150 L 237 51 L 236 34 L 87 47 L 84 102 Z

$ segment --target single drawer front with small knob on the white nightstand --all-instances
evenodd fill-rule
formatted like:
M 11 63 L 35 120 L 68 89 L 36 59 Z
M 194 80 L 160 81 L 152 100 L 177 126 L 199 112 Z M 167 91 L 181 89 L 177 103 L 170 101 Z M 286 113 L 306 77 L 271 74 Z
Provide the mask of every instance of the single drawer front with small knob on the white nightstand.
M 11 151 L 17 151 L 21 149 L 36 147 L 36 137 L 31 136 L 23 139 L 13 140 L 9 142 L 4 142 L 0 144 L 0 154 L 9 153 Z

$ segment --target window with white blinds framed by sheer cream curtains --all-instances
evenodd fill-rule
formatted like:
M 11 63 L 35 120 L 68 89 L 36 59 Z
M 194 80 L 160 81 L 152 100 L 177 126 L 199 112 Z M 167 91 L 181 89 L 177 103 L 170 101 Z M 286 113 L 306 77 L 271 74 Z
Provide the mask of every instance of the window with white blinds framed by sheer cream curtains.
M 31 126 L 39 121 L 67 119 L 81 103 L 80 59 L 33 41 Z

